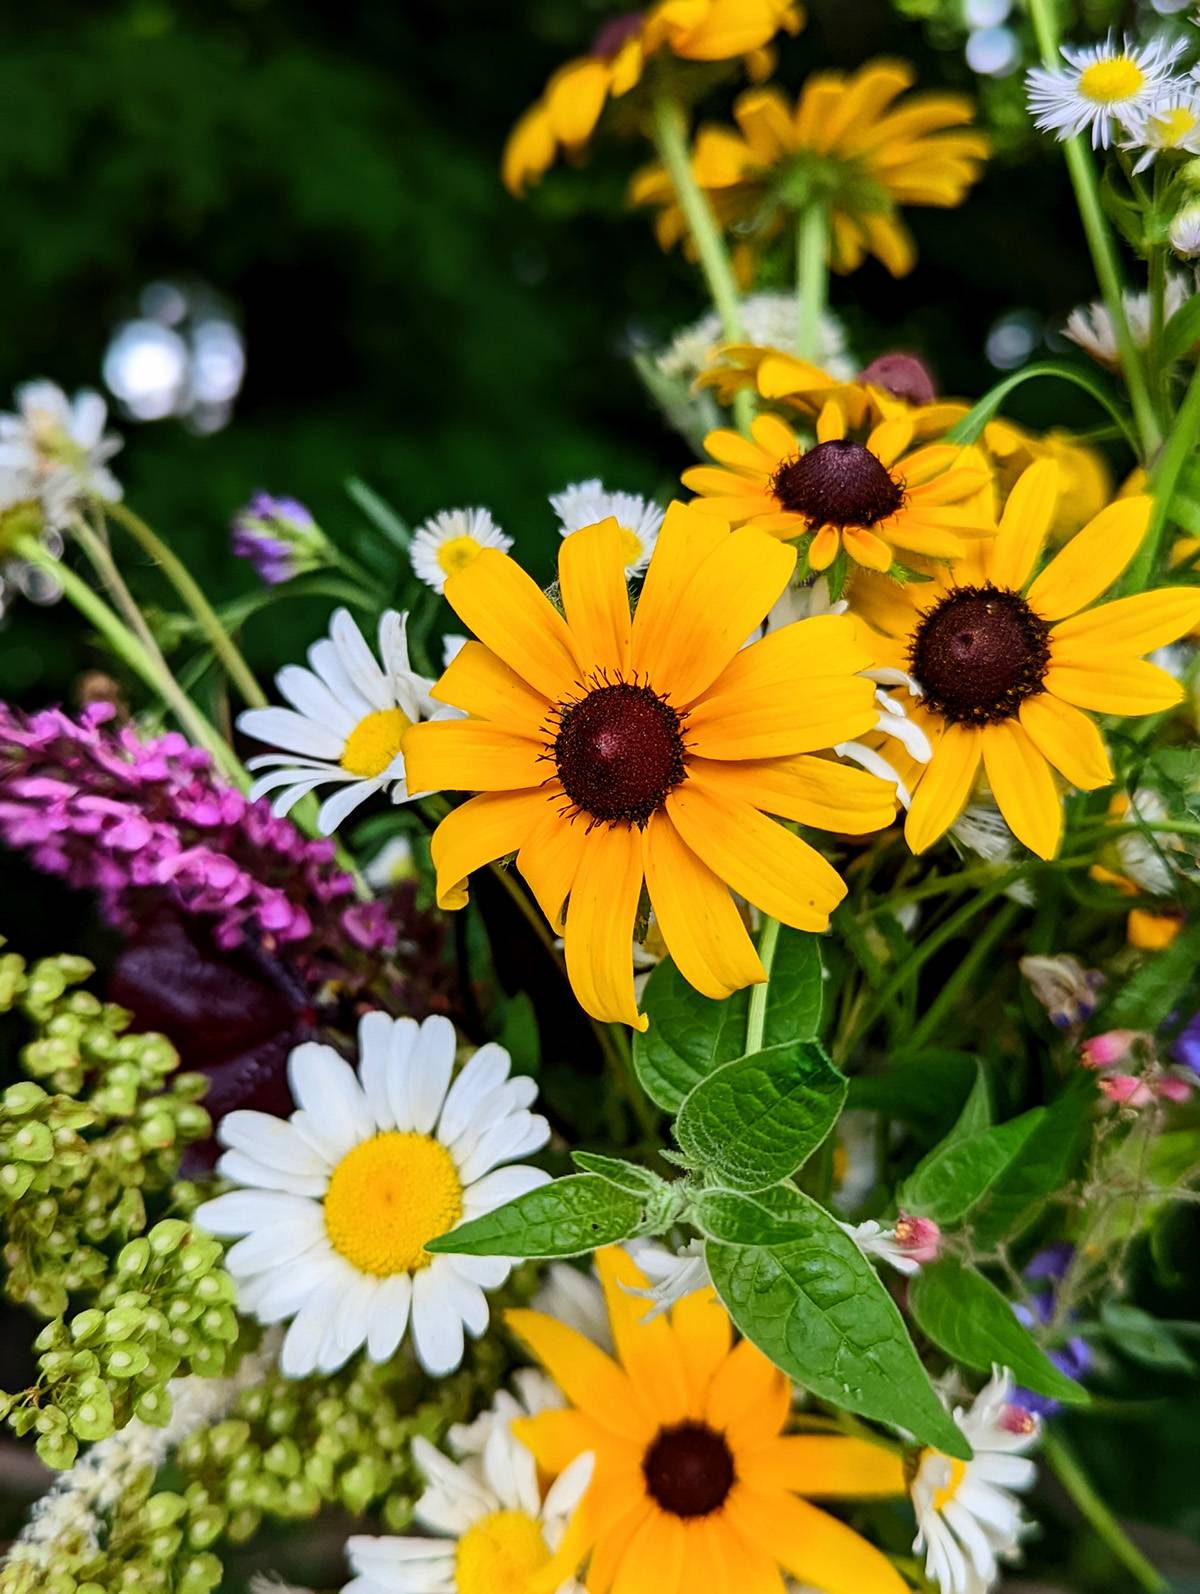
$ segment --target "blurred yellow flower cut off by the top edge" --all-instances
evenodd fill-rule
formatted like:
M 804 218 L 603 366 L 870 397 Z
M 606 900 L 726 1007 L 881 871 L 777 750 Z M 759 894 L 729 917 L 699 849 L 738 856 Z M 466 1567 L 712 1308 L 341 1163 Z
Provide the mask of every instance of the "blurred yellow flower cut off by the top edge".
M 798 33 L 797 0 L 660 0 L 649 11 L 614 18 L 591 51 L 567 61 L 550 78 L 508 135 L 502 175 L 520 196 L 555 164 L 559 151 L 577 156 L 610 99 L 628 94 L 645 62 L 660 51 L 682 61 L 744 57 L 752 78 L 770 72 L 767 46 L 778 32 Z

